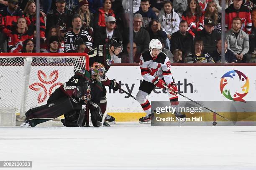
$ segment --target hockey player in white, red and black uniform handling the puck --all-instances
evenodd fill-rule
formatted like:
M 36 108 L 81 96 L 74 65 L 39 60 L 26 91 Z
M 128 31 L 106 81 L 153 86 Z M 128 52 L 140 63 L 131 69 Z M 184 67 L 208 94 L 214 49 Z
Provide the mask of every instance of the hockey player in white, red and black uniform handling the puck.
M 161 51 L 162 44 L 158 39 L 153 39 L 149 43 L 149 50 L 144 52 L 140 57 L 140 68 L 143 81 L 139 87 L 136 99 L 141 104 L 141 107 L 146 112 L 145 117 L 140 118 L 140 123 L 151 121 L 154 113 L 151 113 L 151 105 L 146 99 L 155 87 L 165 88 L 169 95 L 172 106 L 178 105 L 179 100 L 177 96 L 178 88 L 174 82 L 171 73 L 169 58 Z M 177 117 L 186 117 L 180 112 L 175 112 Z

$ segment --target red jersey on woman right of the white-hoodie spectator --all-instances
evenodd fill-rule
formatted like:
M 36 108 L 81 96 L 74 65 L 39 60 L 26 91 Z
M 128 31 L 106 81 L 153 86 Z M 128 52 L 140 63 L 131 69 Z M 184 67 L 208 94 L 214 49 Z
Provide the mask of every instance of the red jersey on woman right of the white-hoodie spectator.
M 189 17 L 187 15 L 187 11 L 185 11 L 182 14 L 182 20 L 187 21 L 187 23 L 188 23 L 188 30 L 187 31 L 191 35 L 193 35 L 193 37 L 195 37 L 195 33 L 197 31 L 200 31 L 204 28 L 204 16 L 203 15 L 199 18 L 199 21 L 196 21 L 197 17 L 195 15 L 192 15 L 191 17 Z

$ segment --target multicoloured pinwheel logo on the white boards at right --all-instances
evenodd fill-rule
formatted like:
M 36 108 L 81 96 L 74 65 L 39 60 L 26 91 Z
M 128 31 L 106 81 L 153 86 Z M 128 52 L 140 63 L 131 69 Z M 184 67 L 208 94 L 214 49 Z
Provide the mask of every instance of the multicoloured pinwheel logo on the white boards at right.
M 220 80 L 220 92 L 229 100 L 245 102 L 249 90 L 249 79 L 238 70 L 226 72 Z

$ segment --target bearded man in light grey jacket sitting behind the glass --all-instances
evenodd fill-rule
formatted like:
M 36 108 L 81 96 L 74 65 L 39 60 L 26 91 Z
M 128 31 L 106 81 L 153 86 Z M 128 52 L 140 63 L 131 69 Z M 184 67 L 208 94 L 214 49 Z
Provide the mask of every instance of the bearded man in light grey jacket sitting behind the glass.
M 246 62 L 246 54 L 249 51 L 249 37 L 241 30 L 242 23 L 241 18 L 233 18 L 232 28 L 226 33 L 228 49 L 236 55 L 238 62 Z

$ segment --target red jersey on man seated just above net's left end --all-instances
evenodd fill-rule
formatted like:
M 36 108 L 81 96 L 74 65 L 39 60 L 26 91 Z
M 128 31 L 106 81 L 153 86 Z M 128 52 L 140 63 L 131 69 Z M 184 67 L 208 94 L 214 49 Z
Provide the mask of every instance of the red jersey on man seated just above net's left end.
M 32 32 L 26 31 L 24 34 L 20 34 L 16 30 L 11 32 L 8 40 L 9 52 L 20 52 L 23 42 L 27 39 L 33 39 Z

